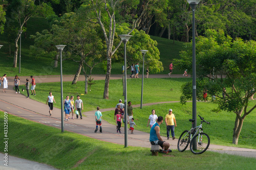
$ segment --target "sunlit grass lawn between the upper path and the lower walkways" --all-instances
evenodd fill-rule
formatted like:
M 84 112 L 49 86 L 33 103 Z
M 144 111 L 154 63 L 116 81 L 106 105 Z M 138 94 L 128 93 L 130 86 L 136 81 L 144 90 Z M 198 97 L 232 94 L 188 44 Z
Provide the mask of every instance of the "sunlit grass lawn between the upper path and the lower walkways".
M 179 101 L 180 87 L 182 84 L 190 81 L 190 78 L 166 78 L 166 79 L 144 79 L 143 103 Z M 71 85 L 71 82 L 63 82 L 63 99 L 67 95 L 80 95 L 83 101 L 85 111 L 96 110 L 100 108 L 115 107 L 119 99 L 124 100 L 122 90 L 122 80 L 110 80 L 109 100 L 103 99 L 104 80 L 95 81 L 96 84 L 91 87 L 86 95 L 84 93 L 84 82 L 77 82 Z M 25 86 L 20 86 L 20 89 Z M 30 96 L 31 99 L 46 103 L 49 91 L 52 91 L 56 104 L 54 107 L 60 108 L 60 83 L 37 83 L 36 96 Z M 24 91 L 22 94 L 27 95 Z M 75 97 L 76 99 L 76 97 Z M 127 79 L 127 100 L 133 104 L 140 104 L 141 100 L 141 79 Z

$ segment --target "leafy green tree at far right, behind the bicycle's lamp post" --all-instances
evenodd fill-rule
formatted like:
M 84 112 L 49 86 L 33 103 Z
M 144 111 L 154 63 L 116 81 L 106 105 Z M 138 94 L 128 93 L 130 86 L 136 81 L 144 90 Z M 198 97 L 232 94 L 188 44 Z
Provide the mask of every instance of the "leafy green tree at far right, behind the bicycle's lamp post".
M 191 43 L 185 48 L 181 59 L 175 62 L 179 68 L 191 69 Z M 196 49 L 197 98 L 202 100 L 203 91 L 207 89 L 208 94 L 217 97 L 219 110 L 236 114 L 232 143 L 238 144 L 244 119 L 256 108 L 256 105 L 248 106 L 256 89 L 256 42 L 241 38 L 232 41 L 223 31 L 207 30 L 205 37 L 197 38 Z M 181 103 L 191 98 L 189 82 L 182 86 Z

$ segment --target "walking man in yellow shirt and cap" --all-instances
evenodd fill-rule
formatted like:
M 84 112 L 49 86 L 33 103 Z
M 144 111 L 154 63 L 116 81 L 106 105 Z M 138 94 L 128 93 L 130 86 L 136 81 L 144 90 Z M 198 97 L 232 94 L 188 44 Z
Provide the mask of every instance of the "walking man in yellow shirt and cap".
M 175 139 L 174 125 L 175 127 L 177 127 L 177 125 L 176 125 L 176 119 L 172 109 L 169 109 L 169 113 L 166 114 L 165 116 L 165 124 L 166 124 L 166 131 L 167 131 L 167 139 L 169 139 L 169 136 L 170 136 L 169 134 L 171 133 L 174 140 Z

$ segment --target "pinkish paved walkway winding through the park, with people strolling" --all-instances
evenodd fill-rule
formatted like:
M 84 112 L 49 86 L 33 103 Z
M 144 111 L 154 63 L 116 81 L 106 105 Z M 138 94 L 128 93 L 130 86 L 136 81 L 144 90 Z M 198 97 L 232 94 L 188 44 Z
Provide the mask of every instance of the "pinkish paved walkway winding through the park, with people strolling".
M 150 75 L 151 77 L 163 78 L 168 77 L 168 75 Z M 94 75 L 92 76 L 95 80 L 104 79 L 104 76 Z M 182 75 L 173 75 L 173 77 L 182 77 Z M 27 77 L 20 77 L 20 80 L 24 80 Z M 120 79 L 121 75 L 113 75 L 111 79 Z M 35 77 L 36 82 L 57 82 L 60 80 L 57 76 L 51 77 Z M 82 79 L 82 80 L 81 80 Z M 84 77 L 80 76 L 79 81 L 83 81 Z M 72 76 L 64 76 L 63 81 L 72 81 Z M 23 82 L 22 82 L 23 83 Z M 12 83 L 9 83 L 9 88 L 6 93 L 0 91 L 0 110 L 6 111 L 9 114 L 17 115 L 34 122 L 38 122 L 41 124 L 45 124 L 48 126 L 61 128 L 61 110 L 58 108 L 54 108 L 52 112 L 52 116 L 49 116 L 48 112 L 48 105 L 42 104 L 40 102 L 26 99 L 26 97 L 22 94 L 15 94 L 12 90 L 13 86 Z M 29 102 L 28 102 L 29 101 Z M 164 102 L 163 102 L 164 103 Z M 171 102 L 165 102 L 171 103 Z M 143 104 L 143 106 L 147 105 L 154 105 L 157 103 L 152 104 Z M 140 105 L 133 105 L 133 107 L 139 107 Z M 114 108 L 110 109 L 101 109 L 101 112 L 113 110 Z M 68 122 L 64 122 L 64 129 L 67 131 L 79 133 L 84 136 L 96 138 L 103 141 L 124 144 L 124 134 L 117 134 L 115 133 L 116 127 L 114 125 L 109 124 L 108 122 L 102 120 L 102 129 L 103 133 L 94 133 L 95 129 L 95 117 L 94 111 L 83 112 L 84 115 L 83 119 L 70 119 Z M 63 116 L 65 117 L 65 115 Z M 122 129 L 122 132 L 123 129 Z M 11 133 L 11 132 L 9 132 Z M 166 137 L 163 137 L 166 140 Z M 128 134 L 128 145 L 129 146 L 136 146 L 136 147 L 146 147 L 150 148 L 151 144 L 148 141 L 149 134 L 141 131 L 134 130 L 134 134 Z M 170 149 L 177 149 L 177 142 L 178 139 L 175 140 L 166 140 L 170 143 Z M 245 148 L 236 148 L 236 147 L 226 147 L 221 145 L 214 145 L 210 144 L 209 150 L 220 152 L 220 153 L 227 153 L 232 155 L 241 155 L 246 157 L 253 157 L 256 158 L 256 150 L 254 149 L 245 149 Z M 11 158 L 10 158 L 10 166 L 11 166 Z M 1 166 L 0 166 L 1 169 Z

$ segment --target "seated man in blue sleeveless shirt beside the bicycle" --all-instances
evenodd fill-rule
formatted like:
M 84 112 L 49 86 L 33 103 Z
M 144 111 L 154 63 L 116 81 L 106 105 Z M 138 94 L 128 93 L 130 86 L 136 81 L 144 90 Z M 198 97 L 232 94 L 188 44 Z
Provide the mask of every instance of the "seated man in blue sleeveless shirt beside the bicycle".
M 163 117 L 159 116 L 157 118 L 157 123 L 155 123 L 150 130 L 150 142 L 152 145 L 160 145 L 162 148 L 162 153 L 169 153 L 172 150 L 169 150 L 170 144 L 168 142 L 163 141 L 160 136 L 160 125 L 163 123 Z

